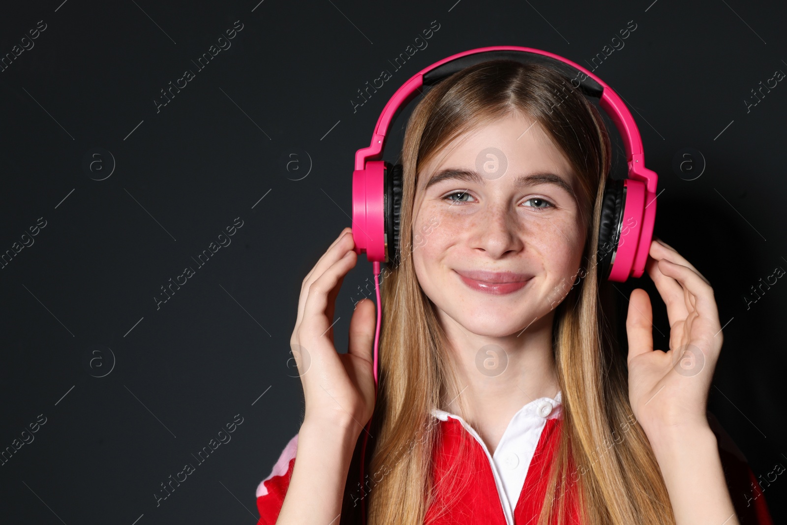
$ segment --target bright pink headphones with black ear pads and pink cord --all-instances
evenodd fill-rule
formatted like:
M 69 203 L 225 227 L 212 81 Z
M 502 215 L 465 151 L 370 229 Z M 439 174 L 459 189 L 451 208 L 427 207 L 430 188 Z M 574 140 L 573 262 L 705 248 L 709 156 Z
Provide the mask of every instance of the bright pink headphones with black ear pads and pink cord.
M 623 283 L 629 276 L 640 277 L 645 271 L 656 220 L 656 172 L 645 168 L 642 139 L 629 109 L 623 100 L 586 68 L 547 51 L 519 46 L 491 46 L 464 51 L 435 62 L 412 76 L 386 104 L 377 120 L 371 144 L 357 150 L 353 172 L 353 239 L 355 251 L 366 253 L 375 274 L 377 294 L 377 327 L 375 331 L 374 374 L 377 385 L 377 346 L 380 320 L 380 263 L 398 264 L 401 257 L 399 212 L 402 194 L 402 167 L 382 161 L 382 149 L 391 121 L 423 91 L 470 65 L 506 59 L 522 63 L 549 66 L 563 74 L 572 87 L 589 97 L 599 99 L 599 105 L 615 123 L 623 138 L 628 161 L 628 178 L 608 178 L 599 226 L 597 263 L 603 279 Z M 375 394 L 376 395 L 376 394 Z M 369 421 L 371 423 L 371 420 Z M 367 432 L 361 449 L 361 514 L 366 523 L 364 508 L 364 456 Z

